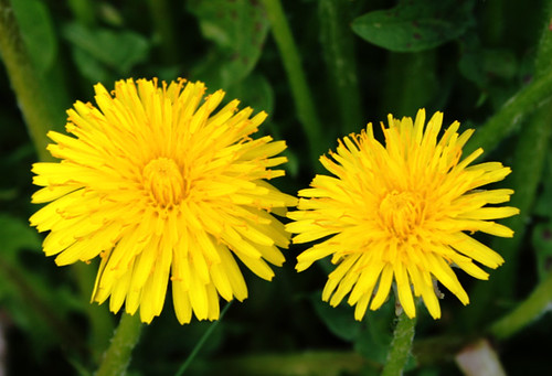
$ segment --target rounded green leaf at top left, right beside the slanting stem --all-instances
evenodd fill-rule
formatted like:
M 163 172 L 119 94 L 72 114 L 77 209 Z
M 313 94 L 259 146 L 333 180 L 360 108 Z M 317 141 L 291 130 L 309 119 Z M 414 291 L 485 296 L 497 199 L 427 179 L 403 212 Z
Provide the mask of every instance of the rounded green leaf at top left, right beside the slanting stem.
M 33 65 L 39 73 L 44 73 L 52 67 L 57 54 L 57 39 L 50 12 L 44 2 L 38 0 L 11 3 Z

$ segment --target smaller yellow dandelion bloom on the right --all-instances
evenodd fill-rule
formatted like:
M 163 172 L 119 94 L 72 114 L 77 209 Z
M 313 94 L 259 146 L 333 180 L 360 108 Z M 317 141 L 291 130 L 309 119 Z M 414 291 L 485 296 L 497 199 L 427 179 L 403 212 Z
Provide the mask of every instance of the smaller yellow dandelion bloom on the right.
M 440 308 L 434 281 L 443 283 L 460 302 L 469 299 L 455 272 L 456 266 L 478 279 L 488 279 L 473 260 L 489 268 L 503 262 L 492 249 L 467 233 L 482 232 L 511 237 L 513 233 L 495 222 L 519 211 L 486 206 L 510 200 L 511 190 L 479 190 L 510 173 L 498 162 L 468 166 L 482 153 L 476 150 L 460 161 L 461 148 L 473 130 L 458 135 L 455 121 L 440 140 L 443 114 L 425 127 L 425 111 L 415 121 L 389 116 L 382 125 L 385 146 L 374 139 L 369 123 L 361 135 L 339 141 L 337 153 L 320 161 L 333 176 L 317 175 L 310 189 L 299 191 L 299 211 L 287 229 L 294 243 L 329 237 L 297 257 L 299 271 L 332 255 L 338 264 L 329 276 L 322 299 L 337 305 L 349 294 L 361 320 L 370 303 L 379 309 L 396 289 L 405 313 L 416 314 L 413 293 L 422 297 L 434 319 Z M 425 130 L 424 130 L 425 128 Z

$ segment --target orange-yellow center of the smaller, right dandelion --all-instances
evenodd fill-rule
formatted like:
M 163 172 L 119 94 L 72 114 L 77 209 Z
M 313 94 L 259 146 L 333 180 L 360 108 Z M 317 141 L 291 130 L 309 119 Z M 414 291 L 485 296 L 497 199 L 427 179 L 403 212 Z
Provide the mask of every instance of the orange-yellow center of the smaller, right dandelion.
M 383 227 L 402 240 L 422 223 L 423 205 L 411 192 L 388 193 L 380 203 L 380 218 Z

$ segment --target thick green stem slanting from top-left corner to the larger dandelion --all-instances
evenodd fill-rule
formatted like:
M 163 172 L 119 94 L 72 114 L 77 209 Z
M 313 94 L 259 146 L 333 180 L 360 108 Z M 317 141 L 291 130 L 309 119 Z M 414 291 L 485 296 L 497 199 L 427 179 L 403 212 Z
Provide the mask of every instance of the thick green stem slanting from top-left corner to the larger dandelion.
M 51 161 L 52 157 L 46 151 L 46 126 L 55 123 L 55 117 L 49 109 L 9 0 L 0 0 L 0 55 L 39 159 Z

